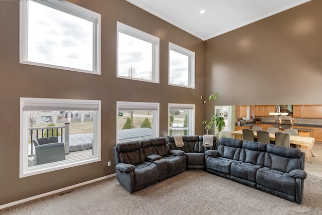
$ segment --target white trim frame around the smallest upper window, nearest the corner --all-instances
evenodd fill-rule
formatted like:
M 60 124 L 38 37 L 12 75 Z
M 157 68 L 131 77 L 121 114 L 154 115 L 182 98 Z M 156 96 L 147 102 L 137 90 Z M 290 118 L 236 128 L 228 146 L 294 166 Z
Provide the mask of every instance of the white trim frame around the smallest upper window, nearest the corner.
M 170 60 L 171 60 L 170 59 L 170 50 L 188 56 L 188 58 L 189 58 L 189 63 L 188 63 L 188 86 L 170 83 Z M 185 49 L 185 48 L 183 48 L 181 46 L 178 46 L 176 44 L 173 44 L 173 43 L 169 42 L 169 69 L 168 70 L 169 70 L 169 72 L 168 72 L 169 85 L 192 88 L 192 89 L 195 88 L 195 52 L 190 51 L 188 49 Z

